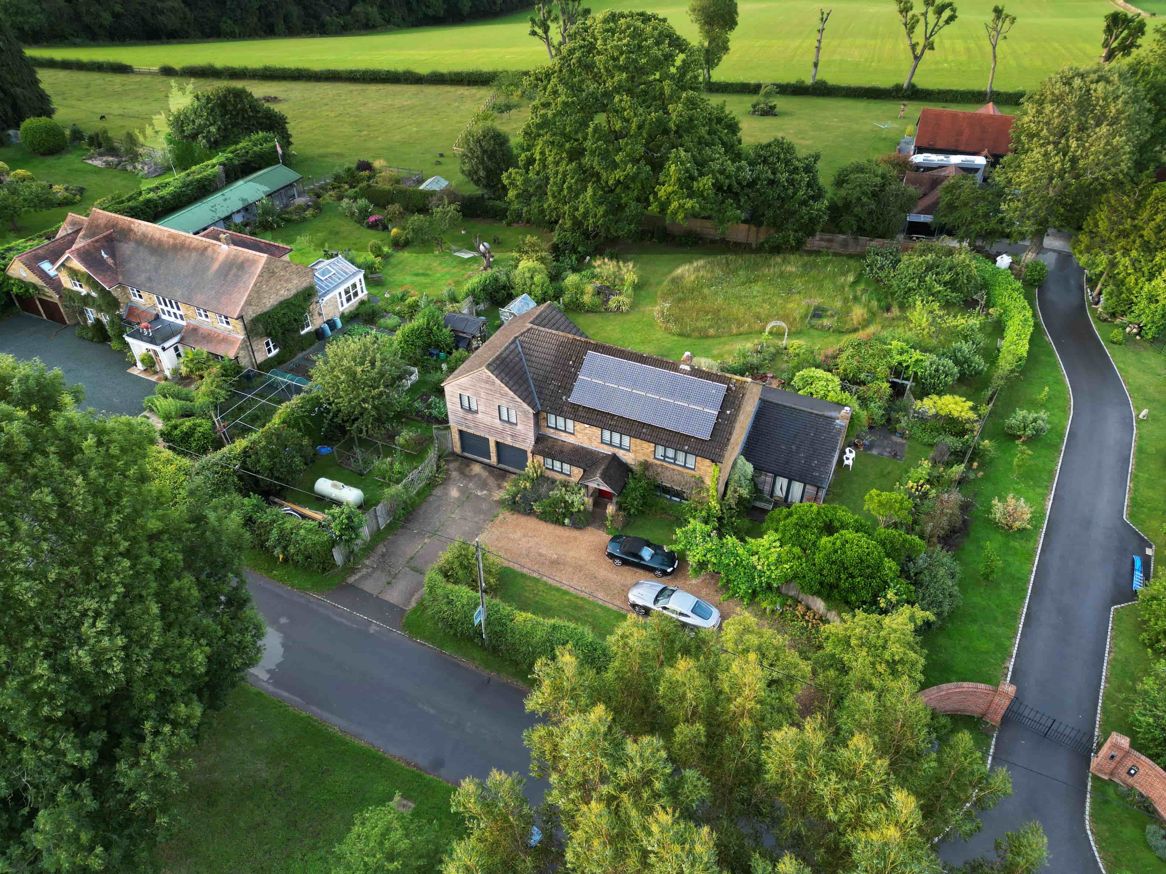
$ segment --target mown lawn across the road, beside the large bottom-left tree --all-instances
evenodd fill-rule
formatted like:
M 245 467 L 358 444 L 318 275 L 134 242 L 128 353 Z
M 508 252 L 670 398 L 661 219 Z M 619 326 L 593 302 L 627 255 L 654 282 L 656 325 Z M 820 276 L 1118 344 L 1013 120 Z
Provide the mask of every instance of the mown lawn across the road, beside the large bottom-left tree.
M 454 788 L 243 685 L 206 720 L 187 770 L 174 838 L 154 852 L 166 874 L 328 874 L 332 848 L 370 806 L 400 792 L 419 830 L 454 839 Z

